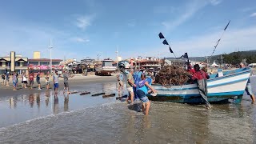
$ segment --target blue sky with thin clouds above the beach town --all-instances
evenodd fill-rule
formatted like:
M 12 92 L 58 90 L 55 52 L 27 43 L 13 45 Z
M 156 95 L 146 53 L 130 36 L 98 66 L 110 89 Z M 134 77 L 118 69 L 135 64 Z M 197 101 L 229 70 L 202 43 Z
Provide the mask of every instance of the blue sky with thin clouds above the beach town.
M 5 0 L 0 9 L 1 56 L 15 50 L 32 58 L 172 57 L 256 50 L 256 1 L 233 0 Z

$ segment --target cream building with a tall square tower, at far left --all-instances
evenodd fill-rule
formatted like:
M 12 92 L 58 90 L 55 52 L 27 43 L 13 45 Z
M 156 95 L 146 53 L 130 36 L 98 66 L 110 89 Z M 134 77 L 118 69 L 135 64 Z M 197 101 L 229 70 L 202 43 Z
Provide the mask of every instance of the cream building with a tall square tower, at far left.
M 0 74 L 13 71 L 22 74 L 23 70 L 27 70 L 27 65 L 28 58 L 24 58 L 22 55 L 15 54 L 14 51 L 11 51 L 10 55 L 0 57 Z

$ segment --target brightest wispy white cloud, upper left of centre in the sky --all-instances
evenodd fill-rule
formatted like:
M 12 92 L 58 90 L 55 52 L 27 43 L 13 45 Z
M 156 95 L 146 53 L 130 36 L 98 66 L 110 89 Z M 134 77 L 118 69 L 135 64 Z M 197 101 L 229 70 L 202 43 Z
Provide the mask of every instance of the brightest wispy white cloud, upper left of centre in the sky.
M 82 30 L 86 30 L 86 28 L 91 25 L 93 19 L 94 14 L 78 16 L 78 18 L 76 18 L 75 25 L 81 28 Z

